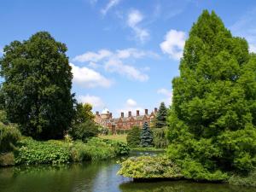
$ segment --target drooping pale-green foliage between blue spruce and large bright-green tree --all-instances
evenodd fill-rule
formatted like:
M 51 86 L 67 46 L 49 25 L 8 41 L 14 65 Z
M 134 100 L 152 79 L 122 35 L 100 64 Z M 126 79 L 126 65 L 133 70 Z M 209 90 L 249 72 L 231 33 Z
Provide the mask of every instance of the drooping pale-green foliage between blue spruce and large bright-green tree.
M 155 148 L 166 148 L 169 141 L 167 139 L 168 127 L 152 129 Z

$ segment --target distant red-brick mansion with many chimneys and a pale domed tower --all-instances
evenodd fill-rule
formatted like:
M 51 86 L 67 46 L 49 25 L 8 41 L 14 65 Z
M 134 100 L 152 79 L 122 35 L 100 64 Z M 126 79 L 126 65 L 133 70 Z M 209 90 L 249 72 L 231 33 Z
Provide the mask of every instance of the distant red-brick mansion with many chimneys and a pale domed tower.
M 117 130 L 130 130 L 133 125 L 143 126 L 144 122 L 150 122 L 155 118 L 157 108 L 154 111 L 148 113 L 148 109 L 145 109 L 143 115 L 140 115 L 140 111 L 137 110 L 136 115 L 132 115 L 131 111 L 128 112 L 128 116 L 125 117 L 125 113 L 121 112 L 119 118 L 113 118 L 112 113 L 109 112 L 108 108 L 105 108 L 102 113 L 96 112 L 95 121 L 97 124 L 107 127 L 113 133 Z

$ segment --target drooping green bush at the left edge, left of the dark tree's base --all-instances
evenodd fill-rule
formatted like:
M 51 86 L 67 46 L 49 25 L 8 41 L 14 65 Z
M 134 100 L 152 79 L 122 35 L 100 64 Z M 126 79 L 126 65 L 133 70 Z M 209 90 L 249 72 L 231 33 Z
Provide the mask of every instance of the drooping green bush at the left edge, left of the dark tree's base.
M 12 151 L 20 136 L 16 125 L 4 125 L 0 122 L 0 153 Z

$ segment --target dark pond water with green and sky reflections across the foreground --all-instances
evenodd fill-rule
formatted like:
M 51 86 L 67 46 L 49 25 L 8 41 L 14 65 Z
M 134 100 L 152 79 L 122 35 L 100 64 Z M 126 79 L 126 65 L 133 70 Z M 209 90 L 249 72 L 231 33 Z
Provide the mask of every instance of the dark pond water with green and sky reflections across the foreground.
M 16 166 L 0 169 L 2 192 L 255 192 L 228 184 L 188 181 L 133 183 L 117 176 L 116 160 L 65 166 Z

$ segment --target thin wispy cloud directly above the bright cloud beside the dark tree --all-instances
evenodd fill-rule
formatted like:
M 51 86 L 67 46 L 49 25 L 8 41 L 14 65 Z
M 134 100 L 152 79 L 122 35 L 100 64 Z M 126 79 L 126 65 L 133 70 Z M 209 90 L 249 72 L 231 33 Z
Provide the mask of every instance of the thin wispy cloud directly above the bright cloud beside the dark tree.
M 110 52 L 107 49 L 101 49 L 97 53 L 96 52 L 86 52 L 83 55 L 77 55 L 73 58 L 73 61 L 79 61 L 79 62 L 86 62 L 86 61 L 101 61 L 102 59 L 109 57 L 112 55 L 112 52 Z

